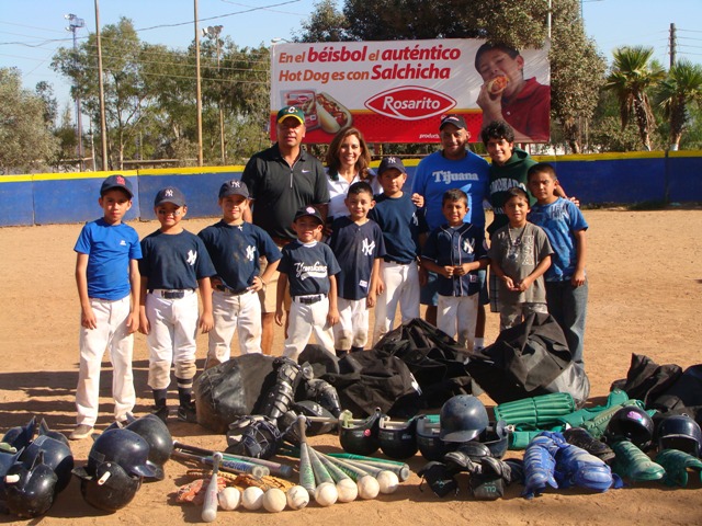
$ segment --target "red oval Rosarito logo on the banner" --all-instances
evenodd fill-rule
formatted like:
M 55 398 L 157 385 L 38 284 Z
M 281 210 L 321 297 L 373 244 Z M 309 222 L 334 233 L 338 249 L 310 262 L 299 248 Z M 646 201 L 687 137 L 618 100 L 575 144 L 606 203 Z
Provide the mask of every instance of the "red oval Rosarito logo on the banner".
M 429 88 L 405 85 L 393 88 L 365 101 L 365 107 L 400 121 L 418 121 L 446 113 L 456 101 Z

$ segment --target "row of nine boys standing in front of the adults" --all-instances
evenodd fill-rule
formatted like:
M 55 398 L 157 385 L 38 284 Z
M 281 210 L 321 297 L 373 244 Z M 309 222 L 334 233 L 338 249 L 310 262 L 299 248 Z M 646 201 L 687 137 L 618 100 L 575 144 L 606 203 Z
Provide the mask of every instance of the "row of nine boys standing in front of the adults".
M 419 317 L 419 264 L 439 275 L 438 328 L 457 335 L 461 345 L 473 348 L 477 271 L 489 265 L 500 279 L 500 330 L 530 312 L 552 312 L 570 325 L 564 331 L 574 361 L 581 362 L 587 224 L 575 205 L 554 195 L 558 183 L 553 168 L 540 163 L 529 171 L 529 188 L 537 199 L 533 209 L 525 191 L 509 191 L 509 225 L 494 233 L 489 249 L 483 229 L 463 222 L 468 199 L 461 190 L 444 194 L 446 222 L 428 232 L 422 210 L 403 192 L 406 178 L 399 159 L 384 158 L 377 171 L 381 195 L 374 196 L 366 182 L 352 184 L 344 201 L 350 215 L 335 220 L 327 242 L 321 241 L 319 211 L 299 209 L 293 221 L 297 239 L 282 252 L 264 230 L 244 221 L 249 194 L 240 181 L 222 185 L 222 220 L 197 236 L 181 226 L 188 213 L 183 194 L 172 186 L 161 190 L 154 203 L 160 228 L 139 243 L 136 231 L 122 222 L 132 206 L 131 184 L 122 175 L 107 178 L 99 199 L 103 218 L 83 227 L 75 248 L 82 327 L 78 419 L 70 438 L 89 436 L 97 421 L 105 347 L 114 366 L 115 420 L 125 420 L 134 408 L 136 330 L 147 336 L 155 413 L 168 418 L 173 365 L 178 419 L 196 422 L 192 385 L 197 330 L 208 332 L 206 367 L 229 358 L 237 330 L 242 354 L 260 352 L 256 293 L 275 272 L 275 321 L 282 324 L 288 310 L 283 355 L 292 359 L 313 332 L 337 356 L 363 350 L 369 308 L 375 307 L 373 344 L 392 329 L 398 306 L 403 322 Z M 263 273 L 260 256 L 268 260 Z

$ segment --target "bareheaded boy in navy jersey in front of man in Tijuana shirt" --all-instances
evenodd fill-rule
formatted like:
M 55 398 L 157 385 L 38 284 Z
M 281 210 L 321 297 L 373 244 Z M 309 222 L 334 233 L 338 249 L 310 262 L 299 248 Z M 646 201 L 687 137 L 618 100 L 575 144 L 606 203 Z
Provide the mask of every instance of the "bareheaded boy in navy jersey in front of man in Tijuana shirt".
M 458 345 L 473 351 L 480 291 L 477 271 L 488 264 L 485 232 L 463 222 L 468 197 L 462 190 L 444 192 L 441 209 L 446 222 L 429 235 L 421 261 L 438 275 L 437 327 L 452 338 L 457 332 Z

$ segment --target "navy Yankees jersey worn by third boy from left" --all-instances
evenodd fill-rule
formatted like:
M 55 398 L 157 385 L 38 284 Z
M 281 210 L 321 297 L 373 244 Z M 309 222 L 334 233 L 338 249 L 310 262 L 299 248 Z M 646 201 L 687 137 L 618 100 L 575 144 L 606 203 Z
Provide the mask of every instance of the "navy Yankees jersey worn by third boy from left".
M 253 283 L 261 271 L 259 256 L 264 255 L 269 263 L 281 259 L 281 251 L 265 230 L 250 222 L 231 226 L 220 220 L 197 236 L 205 243 L 217 276 L 231 290 L 244 290 Z

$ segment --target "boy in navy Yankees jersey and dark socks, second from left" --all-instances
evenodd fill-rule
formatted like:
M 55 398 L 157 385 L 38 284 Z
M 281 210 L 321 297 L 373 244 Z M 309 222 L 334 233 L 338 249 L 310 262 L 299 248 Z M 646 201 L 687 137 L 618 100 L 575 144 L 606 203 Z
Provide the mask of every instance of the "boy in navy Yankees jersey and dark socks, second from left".
M 168 186 L 156 194 L 154 211 L 161 228 L 141 240 L 141 324 L 149 348 L 148 385 L 154 390 L 154 412 L 168 419 L 166 398 L 171 364 L 178 382 L 178 420 L 197 422 L 192 401 L 195 376 L 195 335 L 212 329 L 212 287 L 216 274 L 207 249 L 180 221 L 188 213 L 185 196 Z M 200 289 L 203 311 L 199 315 Z

